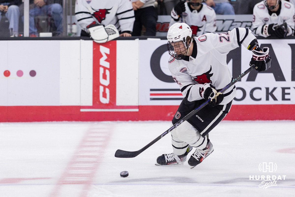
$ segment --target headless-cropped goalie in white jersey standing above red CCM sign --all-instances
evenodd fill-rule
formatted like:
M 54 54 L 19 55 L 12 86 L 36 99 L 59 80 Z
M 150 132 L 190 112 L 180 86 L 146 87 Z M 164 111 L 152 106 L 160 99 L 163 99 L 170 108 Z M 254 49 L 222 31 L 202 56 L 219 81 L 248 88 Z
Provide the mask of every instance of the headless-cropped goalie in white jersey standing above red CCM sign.
M 75 15 L 82 30 L 97 43 L 130 37 L 135 20 L 129 0 L 76 0 Z

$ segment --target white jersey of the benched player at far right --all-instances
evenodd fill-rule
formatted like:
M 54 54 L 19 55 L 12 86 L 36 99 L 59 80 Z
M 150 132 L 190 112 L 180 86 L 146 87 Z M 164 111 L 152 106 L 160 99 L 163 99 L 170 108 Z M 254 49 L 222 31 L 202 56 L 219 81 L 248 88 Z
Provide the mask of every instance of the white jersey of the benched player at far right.
M 254 6 L 252 27 L 254 29 L 253 32 L 256 35 L 267 37 L 267 34 L 263 31 L 264 25 L 267 25 L 267 24 L 282 25 L 284 22 L 286 22 L 288 25 L 289 33 L 287 34 L 287 36 L 294 34 L 294 26 L 295 26 L 294 5 L 289 3 L 288 1 L 281 0 L 280 6 L 281 6 L 281 11 L 278 15 L 276 13 L 272 13 L 270 15 L 263 1 L 261 1 L 260 3 Z

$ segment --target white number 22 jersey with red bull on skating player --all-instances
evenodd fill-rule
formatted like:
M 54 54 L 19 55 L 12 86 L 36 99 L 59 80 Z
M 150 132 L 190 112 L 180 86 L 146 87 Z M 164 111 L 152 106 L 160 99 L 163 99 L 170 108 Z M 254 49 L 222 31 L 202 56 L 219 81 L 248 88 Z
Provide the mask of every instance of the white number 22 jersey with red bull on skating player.
M 182 95 L 189 101 L 201 100 L 199 87 L 203 87 L 203 84 L 212 83 L 219 91 L 224 88 L 232 81 L 232 74 L 226 63 L 227 54 L 240 45 L 248 48 L 254 39 L 251 30 L 241 27 L 226 33 L 207 33 L 194 37 L 191 56 L 186 56 L 183 60 L 171 57 L 168 61 L 168 68 L 174 81 L 180 86 Z M 235 86 L 223 94 L 221 105 L 229 103 L 235 97 Z

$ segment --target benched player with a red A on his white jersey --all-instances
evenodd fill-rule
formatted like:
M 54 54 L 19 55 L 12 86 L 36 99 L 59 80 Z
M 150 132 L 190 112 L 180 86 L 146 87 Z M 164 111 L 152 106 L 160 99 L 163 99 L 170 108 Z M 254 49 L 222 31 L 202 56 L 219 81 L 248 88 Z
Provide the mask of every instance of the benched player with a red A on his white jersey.
M 214 10 L 202 4 L 203 0 L 180 1 L 171 11 L 169 27 L 176 22 L 188 24 L 193 31 L 193 36 L 199 36 L 208 32 L 215 32 L 216 14 Z

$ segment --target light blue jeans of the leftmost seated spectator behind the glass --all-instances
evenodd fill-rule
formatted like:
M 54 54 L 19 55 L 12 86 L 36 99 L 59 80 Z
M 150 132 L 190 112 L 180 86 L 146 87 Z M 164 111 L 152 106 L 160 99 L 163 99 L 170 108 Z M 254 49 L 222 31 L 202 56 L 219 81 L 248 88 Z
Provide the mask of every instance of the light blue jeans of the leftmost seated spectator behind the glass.
M 8 5 L 9 3 L 3 3 L 1 5 Z M 18 25 L 19 25 L 19 6 L 11 5 L 8 7 L 5 17 L 9 20 L 9 29 L 12 29 L 10 34 L 17 36 L 18 35 Z M 0 20 L 2 15 L 0 14 Z

